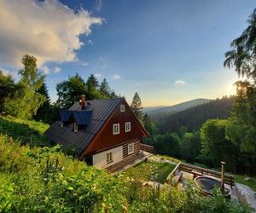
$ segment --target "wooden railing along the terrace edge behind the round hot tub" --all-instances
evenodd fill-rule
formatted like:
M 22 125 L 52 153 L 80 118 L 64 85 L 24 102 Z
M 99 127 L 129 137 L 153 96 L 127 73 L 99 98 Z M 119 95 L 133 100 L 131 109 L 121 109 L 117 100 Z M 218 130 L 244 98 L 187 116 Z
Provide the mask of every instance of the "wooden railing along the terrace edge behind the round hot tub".
M 185 172 L 188 172 L 188 173 L 194 174 L 194 175 L 196 174 L 196 175 L 201 175 L 201 176 L 204 176 L 204 175 L 213 176 L 218 179 L 221 179 L 221 173 L 218 171 L 208 170 L 208 169 L 201 168 L 199 166 L 184 164 L 184 163 L 177 164 L 176 168 L 174 170 L 172 170 L 172 173 L 169 176 L 170 177 L 175 176 L 177 170 L 185 171 Z M 230 185 L 230 187 L 235 186 L 235 176 L 225 174 L 224 175 L 224 183 Z

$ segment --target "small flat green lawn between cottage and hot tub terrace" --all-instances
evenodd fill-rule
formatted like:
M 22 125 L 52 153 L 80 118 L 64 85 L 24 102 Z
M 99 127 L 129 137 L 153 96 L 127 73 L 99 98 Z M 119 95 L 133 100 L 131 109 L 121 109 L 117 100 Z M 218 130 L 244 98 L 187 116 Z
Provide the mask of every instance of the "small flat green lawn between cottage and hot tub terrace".
M 148 161 L 137 164 L 125 170 L 122 174 L 124 177 L 130 177 L 143 181 L 157 181 L 164 183 L 167 176 L 172 172 L 175 165 L 161 162 Z

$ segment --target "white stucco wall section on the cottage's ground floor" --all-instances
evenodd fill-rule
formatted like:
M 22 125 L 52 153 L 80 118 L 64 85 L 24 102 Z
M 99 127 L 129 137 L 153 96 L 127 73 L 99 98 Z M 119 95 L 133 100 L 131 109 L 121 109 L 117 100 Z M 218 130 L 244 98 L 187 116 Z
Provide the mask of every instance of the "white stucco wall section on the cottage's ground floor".
M 107 153 L 112 152 L 113 162 L 107 164 Z M 102 153 L 97 153 L 92 156 L 92 164 L 101 168 L 107 168 L 113 164 L 118 163 L 123 159 L 123 146 L 108 149 Z

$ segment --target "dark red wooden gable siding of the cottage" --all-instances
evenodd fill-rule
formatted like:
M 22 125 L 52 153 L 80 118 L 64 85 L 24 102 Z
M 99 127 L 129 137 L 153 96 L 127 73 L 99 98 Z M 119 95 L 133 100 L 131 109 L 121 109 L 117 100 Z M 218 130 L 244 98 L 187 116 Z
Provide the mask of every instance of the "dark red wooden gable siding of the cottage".
M 120 105 L 125 105 L 125 112 L 120 112 Z M 125 122 L 131 122 L 131 131 L 125 132 Z M 120 133 L 113 135 L 113 124 L 120 124 Z M 127 141 L 140 141 L 143 136 L 147 136 L 147 132 L 139 123 L 131 108 L 125 100 L 121 101 L 116 107 L 113 114 L 108 118 L 108 121 L 102 127 L 102 130 L 96 135 L 94 140 L 86 148 L 84 155 L 98 153 L 110 147 L 117 147 Z

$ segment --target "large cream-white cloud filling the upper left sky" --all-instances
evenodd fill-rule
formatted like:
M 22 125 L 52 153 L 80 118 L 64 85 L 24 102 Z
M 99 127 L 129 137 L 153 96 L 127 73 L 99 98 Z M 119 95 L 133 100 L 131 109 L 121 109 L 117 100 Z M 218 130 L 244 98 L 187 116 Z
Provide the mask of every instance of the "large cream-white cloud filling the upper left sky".
M 88 11 L 75 12 L 58 0 L 0 1 L 0 62 L 20 66 L 21 56 L 34 55 L 38 66 L 46 61 L 76 60 L 82 34 L 102 24 Z

